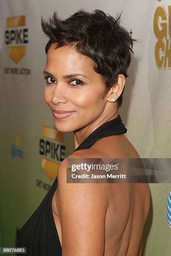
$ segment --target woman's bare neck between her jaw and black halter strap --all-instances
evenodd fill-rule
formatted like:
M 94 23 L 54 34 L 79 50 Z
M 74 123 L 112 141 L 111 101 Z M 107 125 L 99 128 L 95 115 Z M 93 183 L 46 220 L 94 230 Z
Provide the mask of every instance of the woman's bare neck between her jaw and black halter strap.
M 89 125 L 74 131 L 74 146 L 75 149 L 84 141 L 85 138 L 87 138 L 94 130 L 96 130 L 98 127 L 100 127 L 102 124 L 107 123 L 110 120 L 113 120 L 118 117 L 118 112 L 116 111 L 113 113 L 113 115 L 109 116 L 101 116 L 97 120 L 93 121 Z

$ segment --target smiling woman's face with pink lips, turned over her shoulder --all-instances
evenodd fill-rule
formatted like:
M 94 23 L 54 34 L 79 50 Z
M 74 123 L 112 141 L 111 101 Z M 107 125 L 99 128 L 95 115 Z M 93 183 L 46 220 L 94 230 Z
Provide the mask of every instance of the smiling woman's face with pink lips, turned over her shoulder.
M 44 76 L 44 100 L 58 131 L 84 128 L 103 114 L 107 102 L 106 97 L 103 98 L 106 87 L 87 56 L 67 46 L 54 49 L 52 44 L 47 52 Z M 73 113 L 61 119 L 55 117 L 53 110 Z

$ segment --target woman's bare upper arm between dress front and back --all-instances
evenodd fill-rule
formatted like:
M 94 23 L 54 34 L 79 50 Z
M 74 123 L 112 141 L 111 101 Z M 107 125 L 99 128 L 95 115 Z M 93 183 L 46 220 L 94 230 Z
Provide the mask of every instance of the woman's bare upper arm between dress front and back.
M 62 256 L 104 255 L 107 193 L 103 183 L 67 183 L 67 159 L 58 167 L 56 202 Z

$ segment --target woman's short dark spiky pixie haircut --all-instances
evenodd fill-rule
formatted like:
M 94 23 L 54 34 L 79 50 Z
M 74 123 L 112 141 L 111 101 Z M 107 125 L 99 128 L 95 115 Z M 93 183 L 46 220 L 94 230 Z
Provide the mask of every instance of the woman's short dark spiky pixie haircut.
M 118 82 L 118 74 L 128 77 L 126 70 L 131 62 L 133 42 L 129 32 L 119 25 L 121 14 L 116 19 L 102 10 L 89 13 L 78 10 L 69 18 L 61 20 L 54 12 L 52 18 L 45 21 L 41 16 L 43 32 L 49 37 L 45 47 L 48 49 L 57 43 L 55 49 L 62 46 L 74 46 L 79 54 L 88 56 L 94 61 L 94 70 L 102 77 L 106 85 L 104 97 L 111 87 Z M 122 104 L 122 91 L 116 100 L 118 108 Z

